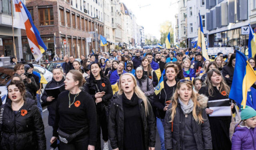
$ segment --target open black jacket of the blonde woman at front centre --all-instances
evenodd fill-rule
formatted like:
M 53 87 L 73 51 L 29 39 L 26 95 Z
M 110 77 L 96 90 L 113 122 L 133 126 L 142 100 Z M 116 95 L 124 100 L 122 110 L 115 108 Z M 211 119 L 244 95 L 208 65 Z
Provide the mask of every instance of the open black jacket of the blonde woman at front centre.
M 149 113 L 146 116 L 144 102 L 142 99 L 138 101 L 140 105 L 140 114 L 143 122 L 145 148 L 155 147 L 155 117 L 148 101 Z M 119 148 L 123 150 L 123 130 L 124 130 L 124 114 L 123 114 L 123 96 L 116 95 L 112 98 L 112 104 L 109 111 L 108 119 L 108 136 L 112 149 Z

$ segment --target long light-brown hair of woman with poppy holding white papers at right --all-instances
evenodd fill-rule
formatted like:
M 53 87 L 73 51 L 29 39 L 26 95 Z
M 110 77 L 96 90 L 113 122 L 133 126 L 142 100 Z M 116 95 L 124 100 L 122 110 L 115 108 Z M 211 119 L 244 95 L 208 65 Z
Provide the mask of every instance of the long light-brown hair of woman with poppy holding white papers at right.
M 219 86 L 219 93 L 221 93 L 222 91 L 226 92 L 226 95 L 229 96 L 229 85 L 226 84 L 226 82 L 224 81 L 224 78 L 222 77 L 220 71 L 218 69 L 213 69 L 213 70 L 209 70 L 207 73 L 207 78 L 205 80 L 206 86 L 208 86 L 208 93 L 210 96 L 213 96 L 213 84 L 211 81 L 211 77 L 213 76 L 213 72 L 215 72 L 216 74 L 221 76 L 221 82 L 220 82 L 220 86 Z

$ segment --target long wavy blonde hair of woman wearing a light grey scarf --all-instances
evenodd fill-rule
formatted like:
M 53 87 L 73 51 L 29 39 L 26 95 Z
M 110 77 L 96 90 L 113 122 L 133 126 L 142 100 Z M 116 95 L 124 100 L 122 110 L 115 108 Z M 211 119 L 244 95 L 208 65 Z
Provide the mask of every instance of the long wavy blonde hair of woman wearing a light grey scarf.
M 172 97 L 172 107 L 171 109 L 167 110 L 167 111 L 171 111 L 171 121 L 170 122 L 173 122 L 174 120 L 174 117 L 176 115 L 176 107 L 178 106 L 178 99 L 179 99 L 179 94 L 178 94 L 178 90 L 181 88 L 181 84 L 186 84 L 188 88 L 191 88 L 192 90 L 192 87 L 193 87 L 193 84 L 191 81 L 189 80 L 183 80 L 182 82 L 179 81 L 177 83 L 177 89 L 175 90 L 175 93 Z M 203 123 L 203 117 L 202 117 L 202 112 L 201 111 L 198 111 L 197 113 L 197 108 L 200 108 L 201 105 L 200 103 L 197 101 L 197 95 L 195 94 L 194 90 L 192 90 L 192 95 L 191 95 L 191 99 L 194 103 L 194 108 L 192 110 L 192 115 L 194 117 L 194 119 L 196 121 L 198 121 L 198 123 Z M 199 109 L 200 110 L 200 109 Z

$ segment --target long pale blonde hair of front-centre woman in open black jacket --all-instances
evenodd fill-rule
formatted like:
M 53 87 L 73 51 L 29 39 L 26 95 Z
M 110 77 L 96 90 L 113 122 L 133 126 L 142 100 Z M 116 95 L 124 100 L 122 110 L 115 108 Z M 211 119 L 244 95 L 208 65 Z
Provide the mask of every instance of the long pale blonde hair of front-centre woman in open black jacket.
M 136 81 L 136 79 L 135 79 L 135 77 L 134 77 L 133 74 L 131 74 L 131 73 L 125 73 L 125 74 L 123 74 L 123 75 L 120 76 L 119 83 L 118 83 L 119 90 L 118 90 L 118 93 L 117 93 L 117 94 L 118 94 L 118 95 L 122 95 L 122 94 L 123 94 L 123 89 L 121 89 L 121 79 L 122 79 L 122 77 L 123 77 L 124 75 L 130 75 L 130 76 L 132 77 L 133 83 L 134 83 L 134 85 L 135 85 L 135 86 L 133 87 L 133 91 L 134 91 L 134 93 L 135 93 L 140 99 L 143 100 L 144 106 L 145 106 L 145 113 L 146 113 L 146 116 L 147 116 L 148 113 L 149 113 L 148 105 L 150 105 L 150 104 L 148 104 L 147 97 L 145 96 L 145 94 L 140 90 L 139 86 L 137 85 L 137 81 Z

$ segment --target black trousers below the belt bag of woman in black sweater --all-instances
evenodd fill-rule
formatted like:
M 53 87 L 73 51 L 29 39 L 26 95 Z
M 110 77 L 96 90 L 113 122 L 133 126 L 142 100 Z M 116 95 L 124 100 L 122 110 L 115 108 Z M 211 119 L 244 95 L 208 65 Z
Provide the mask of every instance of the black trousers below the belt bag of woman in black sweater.
M 60 141 L 59 150 L 87 150 L 89 145 L 89 135 L 79 135 L 70 143 L 66 144 Z

